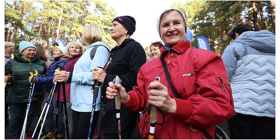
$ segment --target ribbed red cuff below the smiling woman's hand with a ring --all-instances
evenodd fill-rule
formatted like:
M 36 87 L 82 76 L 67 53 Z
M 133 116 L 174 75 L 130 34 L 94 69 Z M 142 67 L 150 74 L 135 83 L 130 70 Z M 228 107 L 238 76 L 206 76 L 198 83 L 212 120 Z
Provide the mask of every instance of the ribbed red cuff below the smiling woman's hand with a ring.
M 182 120 L 188 120 L 193 113 L 193 103 L 190 100 L 174 98 L 176 100 L 177 109 L 173 114 L 175 117 Z

